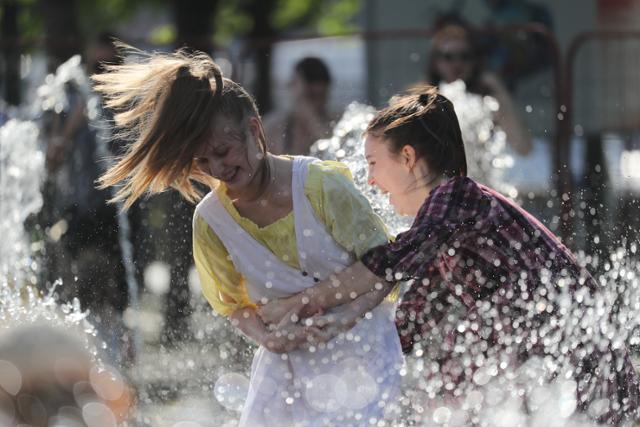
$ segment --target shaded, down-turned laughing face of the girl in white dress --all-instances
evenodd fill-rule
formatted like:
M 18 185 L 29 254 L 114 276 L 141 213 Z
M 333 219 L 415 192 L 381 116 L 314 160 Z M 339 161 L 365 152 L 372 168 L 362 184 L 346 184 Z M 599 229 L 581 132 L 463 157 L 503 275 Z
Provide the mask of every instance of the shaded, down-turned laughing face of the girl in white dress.
M 245 126 L 230 117 L 218 117 L 211 136 L 196 155 L 196 162 L 203 172 L 222 181 L 229 190 L 241 192 L 263 165 L 261 133 L 262 126 L 256 117 L 249 117 Z

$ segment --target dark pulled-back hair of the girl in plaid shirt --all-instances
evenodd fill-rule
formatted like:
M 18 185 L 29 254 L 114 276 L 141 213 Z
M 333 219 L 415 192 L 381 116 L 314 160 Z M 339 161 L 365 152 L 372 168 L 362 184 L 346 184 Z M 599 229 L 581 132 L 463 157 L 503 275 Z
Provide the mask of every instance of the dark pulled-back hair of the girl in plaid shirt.
M 413 147 L 434 174 L 467 176 L 458 117 L 451 101 L 434 86 L 414 86 L 406 94 L 392 97 L 366 133 L 387 139 L 392 153 L 399 153 L 405 145 Z

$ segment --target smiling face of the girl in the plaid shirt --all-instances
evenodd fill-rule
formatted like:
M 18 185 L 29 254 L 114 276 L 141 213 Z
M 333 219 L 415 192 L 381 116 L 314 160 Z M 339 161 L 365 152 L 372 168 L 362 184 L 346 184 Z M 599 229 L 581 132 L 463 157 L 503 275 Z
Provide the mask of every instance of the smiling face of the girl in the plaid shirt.
M 389 194 L 389 202 L 398 215 L 416 215 L 424 198 L 415 191 L 420 187 L 415 173 L 415 152 L 405 146 L 395 154 L 389 151 L 388 144 L 384 137 L 367 134 L 364 154 L 369 165 L 368 183 Z M 409 156 L 405 155 L 405 149 L 410 150 Z

